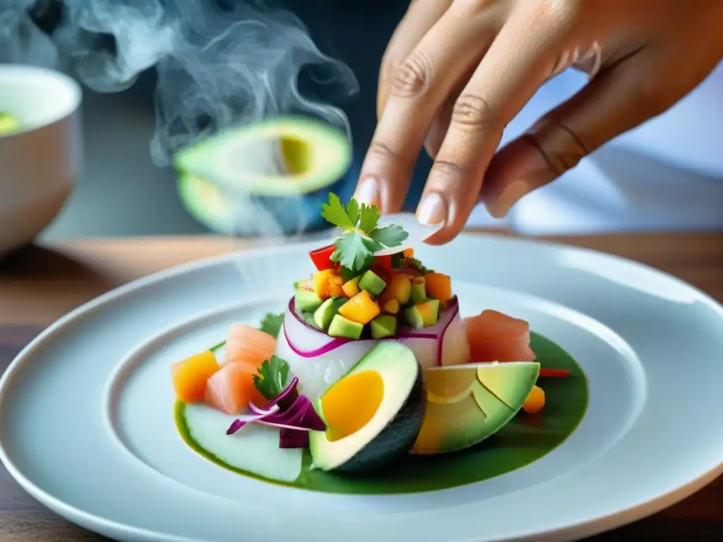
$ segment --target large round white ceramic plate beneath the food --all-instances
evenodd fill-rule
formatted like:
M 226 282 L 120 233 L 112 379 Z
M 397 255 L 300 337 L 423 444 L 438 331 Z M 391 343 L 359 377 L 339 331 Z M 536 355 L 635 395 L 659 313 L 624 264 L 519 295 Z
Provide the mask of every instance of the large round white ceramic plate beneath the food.
M 168 365 L 236 319 L 283 309 L 308 244 L 215 258 L 73 311 L 0 382 L 0 456 L 36 499 L 124 541 L 555 540 L 667 507 L 721 470 L 723 309 L 648 267 L 593 251 L 461 236 L 417 250 L 463 314 L 528 319 L 586 371 L 578 429 L 531 465 L 427 494 L 317 494 L 237 476 L 182 444 Z

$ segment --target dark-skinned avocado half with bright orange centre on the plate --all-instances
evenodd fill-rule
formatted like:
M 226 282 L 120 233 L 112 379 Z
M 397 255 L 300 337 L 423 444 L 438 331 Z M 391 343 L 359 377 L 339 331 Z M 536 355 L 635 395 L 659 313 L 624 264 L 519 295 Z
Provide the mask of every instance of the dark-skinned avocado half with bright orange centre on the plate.
M 425 395 L 414 352 L 377 343 L 317 400 L 327 431 L 309 431 L 315 468 L 365 474 L 392 465 L 416 441 Z

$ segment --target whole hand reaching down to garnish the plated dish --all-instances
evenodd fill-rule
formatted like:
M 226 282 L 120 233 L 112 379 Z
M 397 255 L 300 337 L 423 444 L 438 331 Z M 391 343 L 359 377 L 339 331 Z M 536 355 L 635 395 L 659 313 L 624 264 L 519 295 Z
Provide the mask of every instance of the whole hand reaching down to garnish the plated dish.
M 456 236 L 479 199 L 502 217 L 696 87 L 723 57 L 722 24 L 723 0 L 414 0 L 382 60 L 356 197 L 401 210 L 424 147 L 435 163 L 417 215 L 445 222 L 432 244 Z M 495 154 L 570 65 L 588 85 Z

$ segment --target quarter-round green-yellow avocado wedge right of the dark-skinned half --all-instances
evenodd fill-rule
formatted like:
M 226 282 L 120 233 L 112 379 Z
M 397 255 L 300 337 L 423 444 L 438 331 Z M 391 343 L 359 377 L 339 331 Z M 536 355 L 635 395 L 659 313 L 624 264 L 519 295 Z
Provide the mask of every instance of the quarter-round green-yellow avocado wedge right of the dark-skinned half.
M 495 434 L 522 408 L 539 369 L 536 361 L 427 369 L 426 414 L 411 453 L 455 452 Z

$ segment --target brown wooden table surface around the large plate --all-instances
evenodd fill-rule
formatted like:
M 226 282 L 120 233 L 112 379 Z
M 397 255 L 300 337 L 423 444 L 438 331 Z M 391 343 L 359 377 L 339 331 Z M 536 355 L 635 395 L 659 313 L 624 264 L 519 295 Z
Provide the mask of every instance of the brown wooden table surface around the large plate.
M 506 233 L 502 233 L 505 234 Z M 723 301 L 723 233 L 570 236 L 545 240 L 607 251 L 658 267 Z M 85 301 L 151 272 L 243 249 L 217 237 L 127 238 L 32 246 L 0 259 L 0 371 L 48 324 Z M 590 540 L 718 540 L 723 477 L 680 504 Z M 104 538 L 69 524 L 25 494 L 0 465 L 1 542 L 86 542 Z

